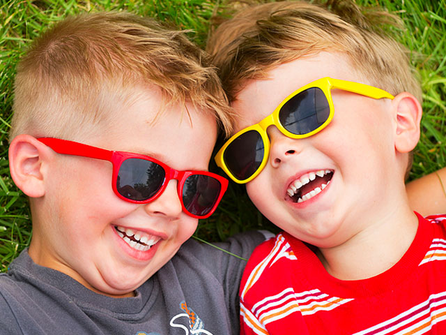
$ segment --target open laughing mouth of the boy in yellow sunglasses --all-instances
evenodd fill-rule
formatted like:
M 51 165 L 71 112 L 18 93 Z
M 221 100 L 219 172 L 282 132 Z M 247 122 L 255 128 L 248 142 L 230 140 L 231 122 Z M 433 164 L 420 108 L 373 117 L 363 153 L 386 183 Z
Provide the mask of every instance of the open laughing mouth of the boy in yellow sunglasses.
M 332 170 L 318 170 L 306 173 L 293 181 L 286 193 L 288 193 L 293 202 L 307 201 L 321 193 L 330 184 L 332 177 Z

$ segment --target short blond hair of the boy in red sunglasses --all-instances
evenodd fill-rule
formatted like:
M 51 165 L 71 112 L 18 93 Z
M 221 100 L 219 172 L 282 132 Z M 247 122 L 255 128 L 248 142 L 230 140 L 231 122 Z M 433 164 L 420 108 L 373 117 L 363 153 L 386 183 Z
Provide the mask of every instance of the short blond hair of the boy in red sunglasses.
M 73 140 L 109 121 L 110 94 L 131 103 L 138 85 L 160 89 L 167 104 L 192 103 L 231 129 L 216 69 L 185 32 L 130 13 L 84 13 L 55 24 L 18 64 L 10 140 L 20 133 Z

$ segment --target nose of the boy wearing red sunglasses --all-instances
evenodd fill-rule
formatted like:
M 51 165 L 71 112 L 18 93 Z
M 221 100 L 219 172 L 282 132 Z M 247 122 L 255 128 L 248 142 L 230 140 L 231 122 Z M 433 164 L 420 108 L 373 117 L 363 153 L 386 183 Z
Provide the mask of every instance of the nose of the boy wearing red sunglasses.
M 180 217 L 183 207 L 178 197 L 177 183 L 175 179 L 171 179 L 167 184 L 164 192 L 153 200 L 144 204 L 146 212 L 153 216 L 160 216 L 169 220 L 176 220 Z

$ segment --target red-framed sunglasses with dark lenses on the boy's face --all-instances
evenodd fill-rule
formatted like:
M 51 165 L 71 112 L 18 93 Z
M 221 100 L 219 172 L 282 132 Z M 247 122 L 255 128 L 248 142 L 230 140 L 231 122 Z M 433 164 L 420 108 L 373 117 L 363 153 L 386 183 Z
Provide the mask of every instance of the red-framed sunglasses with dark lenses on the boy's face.
M 213 214 L 228 187 L 227 179 L 218 174 L 178 171 L 150 156 L 110 151 L 57 138 L 42 137 L 38 140 L 58 154 L 112 162 L 114 193 L 122 200 L 134 204 L 146 204 L 155 200 L 169 181 L 176 179 L 183 211 L 193 218 L 207 218 Z

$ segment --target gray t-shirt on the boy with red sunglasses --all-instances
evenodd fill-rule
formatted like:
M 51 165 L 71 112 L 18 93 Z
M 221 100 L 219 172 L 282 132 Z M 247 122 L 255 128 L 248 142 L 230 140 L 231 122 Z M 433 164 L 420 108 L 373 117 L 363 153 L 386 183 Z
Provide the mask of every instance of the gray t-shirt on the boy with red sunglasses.
M 249 258 L 265 239 L 249 232 L 217 244 Z M 246 262 L 189 240 L 136 297 L 95 293 L 27 250 L 0 274 L 0 334 L 238 334 L 238 288 Z

